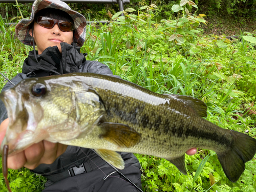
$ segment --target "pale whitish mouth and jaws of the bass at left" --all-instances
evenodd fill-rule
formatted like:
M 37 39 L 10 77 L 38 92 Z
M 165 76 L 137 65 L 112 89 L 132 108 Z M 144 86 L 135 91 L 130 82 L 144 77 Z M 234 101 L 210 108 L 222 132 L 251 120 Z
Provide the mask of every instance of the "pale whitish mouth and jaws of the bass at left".
M 22 93 L 13 89 L 2 92 L 0 99 L 6 106 L 9 118 L 6 135 L 1 144 L 1 153 L 3 153 L 4 145 L 8 145 L 8 154 L 16 154 L 30 146 L 31 141 L 34 141 L 34 127 L 38 120 L 34 115 L 36 104 L 35 106 L 28 104 L 22 98 Z

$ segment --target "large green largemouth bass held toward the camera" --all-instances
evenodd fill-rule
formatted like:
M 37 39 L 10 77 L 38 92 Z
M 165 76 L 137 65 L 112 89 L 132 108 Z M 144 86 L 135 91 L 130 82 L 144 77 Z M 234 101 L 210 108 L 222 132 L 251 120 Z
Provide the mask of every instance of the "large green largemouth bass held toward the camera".
M 2 142 L 9 154 L 41 140 L 93 148 L 115 167 L 118 152 L 165 158 L 186 174 L 184 154 L 199 147 L 217 153 L 236 182 L 256 153 L 256 140 L 205 120 L 207 106 L 183 95 L 158 94 L 99 74 L 25 79 L 1 93 L 9 117 Z

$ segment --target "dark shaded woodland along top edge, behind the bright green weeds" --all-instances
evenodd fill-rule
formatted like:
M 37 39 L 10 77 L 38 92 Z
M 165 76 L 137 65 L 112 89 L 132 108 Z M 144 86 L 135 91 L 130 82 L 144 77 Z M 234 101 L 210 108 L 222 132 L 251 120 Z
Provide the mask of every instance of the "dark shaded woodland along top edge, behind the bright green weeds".
M 155 4 L 158 6 L 159 13 L 155 15 L 155 20 L 174 19 L 177 13 L 172 11 L 172 6 L 179 4 L 180 0 L 130 0 L 125 8 L 134 8 L 138 10 L 145 5 Z M 245 31 L 255 30 L 256 21 L 256 0 L 196 0 L 198 9 L 191 10 L 193 13 L 204 13 L 207 15 L 209 26 L 204 27 L 207 34 L 225 33 L 234 35 L 239 33 L 240 29 Z M 8 12 L 9 18 L 13 21 L 20 19 L 18 8 L 21 9 L 24 18 L 30 16 L 31 3 L 7 4 L 0 3 L 0 13 L 5 17 Z M 109 19 L 108 11 L 112 14 L 119 11 L 118 4 L 69 4 L 70 7 L 82 13 L 88 20 Z M 232 26 L 230 28 L 230 26 Z

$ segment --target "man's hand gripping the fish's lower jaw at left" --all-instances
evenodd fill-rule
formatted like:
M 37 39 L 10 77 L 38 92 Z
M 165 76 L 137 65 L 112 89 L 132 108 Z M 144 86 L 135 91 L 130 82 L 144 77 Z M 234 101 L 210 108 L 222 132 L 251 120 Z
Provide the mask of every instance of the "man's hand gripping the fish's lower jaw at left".
M 9 119 L 0 125 L 0 142 L 2 143 L 8 127 Z M 36 168 L 41 163 L 51 164 L 55 159 L 66 151 L 67 145 L 52 143 L 46 140 L 34 143 L 24 151 L 8 156 L 8 168 L 18 169 L 27 167 Z

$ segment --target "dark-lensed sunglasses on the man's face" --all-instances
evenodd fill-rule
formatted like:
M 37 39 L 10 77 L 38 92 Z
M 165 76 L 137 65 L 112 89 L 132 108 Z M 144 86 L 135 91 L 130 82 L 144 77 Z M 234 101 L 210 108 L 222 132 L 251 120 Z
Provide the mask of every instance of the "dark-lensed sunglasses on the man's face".
M 47 29 L 52 29 L 55 24 L 58 24 L 60 31 L 69 32 L 75 29 L 74 24 L 65 20 L 58 20 L 47 16 L 39 16 L 35 22 Z

